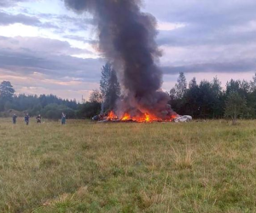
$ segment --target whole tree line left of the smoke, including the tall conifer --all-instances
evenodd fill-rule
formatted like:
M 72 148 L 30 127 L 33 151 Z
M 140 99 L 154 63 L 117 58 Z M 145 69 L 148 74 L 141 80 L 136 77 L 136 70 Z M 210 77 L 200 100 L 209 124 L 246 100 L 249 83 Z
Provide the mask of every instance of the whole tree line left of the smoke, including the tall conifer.
M 9 81 L 0 83 L 0 117 L 10 117 L 14 113 L 24 116 L 40 114 L 43 118 L 59 119 L 64 112 L 67 118 L 92 118 L 101 112 L 113 109 L 120 96 L 120 87 L 113 66 L 102 66 L 100 89 L 92 91 L 88 101 L 64 100 L 55 95 L 15 95 Z

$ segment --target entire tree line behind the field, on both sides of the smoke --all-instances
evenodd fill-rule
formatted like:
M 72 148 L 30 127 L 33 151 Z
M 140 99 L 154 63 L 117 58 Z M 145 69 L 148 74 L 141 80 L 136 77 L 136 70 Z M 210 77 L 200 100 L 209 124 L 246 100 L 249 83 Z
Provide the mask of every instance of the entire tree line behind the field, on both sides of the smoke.
M 102 66 L 100 88 L 90 94 L 88 101 L 63 100 L 55 95 L 15 95 L 11 83 L 0 84 L 0 116 L 11 112 L 28 112 L 31 116 L 41 114 L 44 118 L 57 119 L 61 112 L 67 118 L 92 118 L 96 114 L 113 110 L 121 97 L 120 85 L 113 66 Z M 217 77 L 212 81 L 197 83 L 193 78 L 187 83 L 183 72 L 168 92 L 172 109 L 178 114 L 193 118 L 256 118 L 256 73 L 251 81 L 234 80 L 222 87 Z

